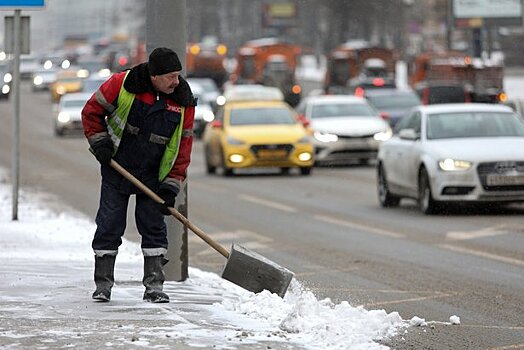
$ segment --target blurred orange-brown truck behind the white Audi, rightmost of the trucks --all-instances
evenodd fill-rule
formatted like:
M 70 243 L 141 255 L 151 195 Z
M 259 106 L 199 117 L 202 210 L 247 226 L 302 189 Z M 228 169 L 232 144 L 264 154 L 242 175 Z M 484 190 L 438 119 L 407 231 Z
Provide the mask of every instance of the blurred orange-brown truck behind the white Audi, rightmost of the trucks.
M 498 103 L 506 96 L 503 64 L 472 58 L 460 51 L 421 53 L 410 71 L 410 83 L 416 90 L 421 90 L 420 86 L 459 84 L 469 95 L 467 101 Z

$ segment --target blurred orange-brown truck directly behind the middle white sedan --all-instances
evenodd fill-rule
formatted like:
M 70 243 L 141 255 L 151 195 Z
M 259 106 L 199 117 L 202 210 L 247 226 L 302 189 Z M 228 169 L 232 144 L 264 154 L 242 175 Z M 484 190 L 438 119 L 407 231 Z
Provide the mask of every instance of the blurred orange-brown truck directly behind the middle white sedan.
M 370 45 L 365 41 L 348 41 L 327 56 L 324 79 L 326 93 L 346 93 L 351 84 L 383 78 L 394 82 L 397 52 Z

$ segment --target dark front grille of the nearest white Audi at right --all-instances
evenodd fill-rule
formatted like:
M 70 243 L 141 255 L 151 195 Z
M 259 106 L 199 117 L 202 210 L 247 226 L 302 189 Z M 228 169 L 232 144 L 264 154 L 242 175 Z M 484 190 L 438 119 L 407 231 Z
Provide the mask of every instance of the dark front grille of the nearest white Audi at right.
M 477 173 L 486 191 L 524 191 L 524 162 L 481 163 Z

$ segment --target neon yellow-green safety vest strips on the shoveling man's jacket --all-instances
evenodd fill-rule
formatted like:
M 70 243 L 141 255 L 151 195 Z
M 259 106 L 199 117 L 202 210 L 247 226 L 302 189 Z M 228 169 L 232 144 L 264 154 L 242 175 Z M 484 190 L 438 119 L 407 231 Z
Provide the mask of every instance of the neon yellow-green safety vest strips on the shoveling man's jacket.
M 115 155 L 118 151 L 118 146 L 120 145 L 120 141 L 122 140 L 122 135 L 124 134 L 124 129 L 127 124 L 127 117 L 131 111 L 133 101 L 135 100 L 135 94 L 130 93 L 124 88 L 124 82 L 126 81 L 127 74 L 129 74 L 129 71 L 127 71 L 124 81 L 122 82 L 122 86 L 120 87 L 120 92 L 118 93 L 118 107 L 111 114 L 111 116 L 107 118 L 108 132 L 109 135 L 111 135 L 111 140 L 115 146 L 113 155 Z M 160 168 L 158 171 L 159 181 L 163 181 L 167 177 L 178 156 L 180 141 L 182 140 L 182 126 L 184 125 L 184 107 L 181 108 L 180 114 L 180 123 L 176 127 L 175 132 L 167 143 L 164 154 L 162 155 L 162 160 L 160 161 Z

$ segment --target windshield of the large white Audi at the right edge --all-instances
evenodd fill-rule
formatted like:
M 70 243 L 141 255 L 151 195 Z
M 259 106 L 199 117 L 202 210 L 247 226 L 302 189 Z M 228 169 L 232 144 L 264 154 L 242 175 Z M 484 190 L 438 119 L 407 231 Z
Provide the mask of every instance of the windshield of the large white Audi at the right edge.
M 524 122 L 514 113 L 460 112 L 428 116 L 427 138 L 524 137 Z

